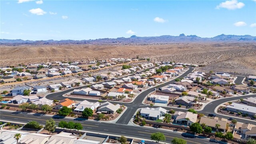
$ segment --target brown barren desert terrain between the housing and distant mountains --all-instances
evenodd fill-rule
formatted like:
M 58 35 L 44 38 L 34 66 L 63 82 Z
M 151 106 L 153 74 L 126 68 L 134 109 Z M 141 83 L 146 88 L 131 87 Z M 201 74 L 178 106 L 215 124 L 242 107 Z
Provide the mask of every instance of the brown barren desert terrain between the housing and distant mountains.
M 188 42 L 145 45 L 40 45 L 1 46 L 0 66 L 54 61 L 105 58 L 150 58 L 198 64 L 200 71 L 256 75 L 256 44 L 253 42 Z

